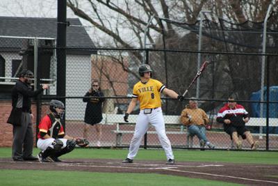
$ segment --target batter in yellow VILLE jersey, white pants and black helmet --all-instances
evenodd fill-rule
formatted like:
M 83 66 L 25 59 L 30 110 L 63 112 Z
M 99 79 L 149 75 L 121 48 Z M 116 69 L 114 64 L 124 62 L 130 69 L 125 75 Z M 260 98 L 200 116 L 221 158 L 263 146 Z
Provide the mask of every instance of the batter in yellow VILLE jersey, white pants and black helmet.
M 132 100 L 124 115 L 124 121 L 128 122 L 129 114 L 133 111 L 134 107 L 136 107 L 137 101 L 140 102 L 140 114 L 136 121 L 133 138 L 131 139 L 129 154 L 123 163 L 133 162 L 134 157 L 136 157 L 138 153 L 142 137 L 147 132 L 149 123 L 151 123 L 151 125 L 155 127 L 161 146 L 165 150 L 167 157 L 166 164 L 174 164 L 172 147 L 165 133 L 165 123 L 161 110 L 161 93 L 171 98 L 177 98 L 180 101 L 183 100 L 183 96 L 166 88 L 165 85 L 158 80 L 152 79 L 151 73 L 152 69 L 149 65 L 141 65 L 139 68 L 140 82 L 133 86 Z

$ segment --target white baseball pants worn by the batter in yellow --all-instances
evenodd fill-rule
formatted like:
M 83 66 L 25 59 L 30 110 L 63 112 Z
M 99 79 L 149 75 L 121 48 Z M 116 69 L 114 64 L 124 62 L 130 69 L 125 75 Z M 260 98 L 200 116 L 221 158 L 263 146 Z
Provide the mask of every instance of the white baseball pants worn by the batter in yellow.
M 165 133 L 165 123 L 161 107 L 158 107 L 157 109 L 152 109 L 151 114 L 144 114 L 143 110 L 140 111 L 140 114 L 136 121 L 135 131 L 131 139 L 131 144 L 129 146 L 129 154 L 127 155 L 127 157 L 133 160 L 133 158 L 138 153 L 142 137 L 147 132 L 149 128 L 149 123 L 151 123 L 151 125 L 154 126 L 156 129 L 158 139 L 161 142 L 161 146 L 165 151 L 167 160 L 174 160 L 171 143 Z

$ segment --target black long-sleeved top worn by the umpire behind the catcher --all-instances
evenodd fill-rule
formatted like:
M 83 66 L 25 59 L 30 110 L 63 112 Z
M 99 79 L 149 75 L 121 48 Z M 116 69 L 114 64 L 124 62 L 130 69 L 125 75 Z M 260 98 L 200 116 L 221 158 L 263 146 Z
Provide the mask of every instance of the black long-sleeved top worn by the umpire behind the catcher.
M 30 85 L 17 81 L 12 89 L 13 108 L 22 108 L 22 111 L 31 113 L 31 97 L 35 97 L 42 91 L 42 87 L 33 91 Z

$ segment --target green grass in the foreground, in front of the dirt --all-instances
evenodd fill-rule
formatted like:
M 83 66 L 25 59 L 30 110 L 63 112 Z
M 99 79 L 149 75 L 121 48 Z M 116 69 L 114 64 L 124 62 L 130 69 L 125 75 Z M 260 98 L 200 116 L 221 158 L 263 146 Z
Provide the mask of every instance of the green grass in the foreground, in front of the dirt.
M 76 171 L 0 170 L 1 185 L 237 185 L 156 173 L 94 173 Z M 28 181 L 26 181 L 28 180 Z

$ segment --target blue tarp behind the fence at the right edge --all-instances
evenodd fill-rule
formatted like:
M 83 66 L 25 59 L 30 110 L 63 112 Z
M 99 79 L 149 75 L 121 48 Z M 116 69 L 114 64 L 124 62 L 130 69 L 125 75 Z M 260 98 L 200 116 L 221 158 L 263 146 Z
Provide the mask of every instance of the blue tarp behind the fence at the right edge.
M 261 90 L 252 93 L 250 100 L 260 101 L 261 100 Z M 263 88 L 263 100 L 266 100 L 266 87 Z M 270 101 L 278 101 L 278 86 L 270 86 Z M 278 118 L 278 104 L 270 103 L 269 105 L 269 116 L 270 118 Z M 252 114 L 251 117 L 260 118 L 261 104 L 252 103 Z M 263 118 L 266 117 L 266 104 L 263 104 Z M 278 127 L 270 127 L 270 133 L 278 134 Z M 256 131 L 259 132 L 259 131 Z M 265 127 L 263 127 L 263 133 L 265 133 Z

